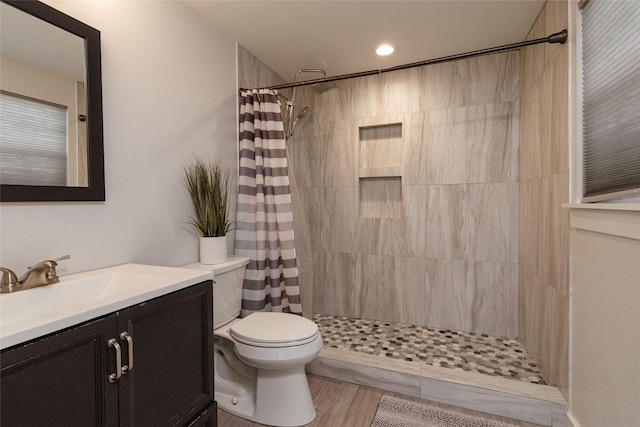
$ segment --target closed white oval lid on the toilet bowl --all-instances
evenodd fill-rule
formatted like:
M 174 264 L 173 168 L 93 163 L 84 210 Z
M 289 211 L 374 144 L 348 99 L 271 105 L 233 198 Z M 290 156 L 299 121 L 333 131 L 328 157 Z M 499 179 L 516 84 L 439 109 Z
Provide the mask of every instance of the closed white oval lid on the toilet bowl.
M 229 332 L 239 341 L 268 346 L 315 338 L 318 325 L 295 314 L 258 312 L 234 323 Z

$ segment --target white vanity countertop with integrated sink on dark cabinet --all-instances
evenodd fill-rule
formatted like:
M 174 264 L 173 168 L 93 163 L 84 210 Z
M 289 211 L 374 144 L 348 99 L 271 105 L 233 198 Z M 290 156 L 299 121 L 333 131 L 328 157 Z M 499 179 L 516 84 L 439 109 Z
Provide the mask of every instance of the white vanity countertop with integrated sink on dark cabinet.
M 211 278 L 213 273 L 203 270 L 122 264 L 0 294 L 0 349 Z

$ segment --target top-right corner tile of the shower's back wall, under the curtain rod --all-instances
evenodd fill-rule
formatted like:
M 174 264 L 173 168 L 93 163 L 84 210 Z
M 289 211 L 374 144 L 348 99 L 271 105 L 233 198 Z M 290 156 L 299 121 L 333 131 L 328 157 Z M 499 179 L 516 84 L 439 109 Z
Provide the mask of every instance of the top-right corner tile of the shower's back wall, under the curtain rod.
M 519 94 L 518 51 L 482 55 L 467 62 L 466 105 L 515 101 Z

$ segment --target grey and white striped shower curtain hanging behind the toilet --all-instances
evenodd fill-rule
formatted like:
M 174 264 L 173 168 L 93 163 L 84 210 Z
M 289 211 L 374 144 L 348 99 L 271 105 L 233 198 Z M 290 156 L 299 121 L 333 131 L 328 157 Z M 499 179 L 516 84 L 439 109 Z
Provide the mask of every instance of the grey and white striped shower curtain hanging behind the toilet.
M 242 91 L 240 96 L 236 253 L 250 258 L 241 316 L 256 311 L 302 314 L 280 104 L 271 90 Z

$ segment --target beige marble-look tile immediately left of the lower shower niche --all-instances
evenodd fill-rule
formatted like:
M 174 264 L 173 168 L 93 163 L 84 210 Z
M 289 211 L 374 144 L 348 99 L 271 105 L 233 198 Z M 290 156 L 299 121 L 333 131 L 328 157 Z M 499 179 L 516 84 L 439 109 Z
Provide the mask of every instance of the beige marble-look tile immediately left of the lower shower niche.
M 322 237 L 326 251 L 353 252 L 358 212 L 356 197 L 356 187 L 325 187 Z

